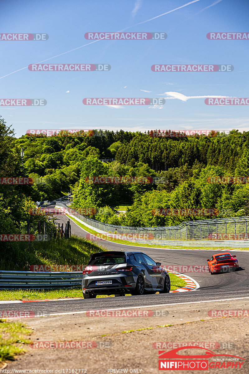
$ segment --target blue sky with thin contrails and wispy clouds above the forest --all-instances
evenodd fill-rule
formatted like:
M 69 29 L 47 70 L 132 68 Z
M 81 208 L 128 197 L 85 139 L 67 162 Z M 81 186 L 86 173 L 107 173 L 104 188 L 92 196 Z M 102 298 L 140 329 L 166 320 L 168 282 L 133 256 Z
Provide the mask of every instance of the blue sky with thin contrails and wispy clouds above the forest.
M 249 2 L 188 3 L 187 0 L 1 0 L 0 33 L 46 33 L 49 39 L 0 41 L 0 98 L 47 100 L 44 107 L 0 107 L 0 115 L 7 125 L 13 124 L 17 137 L 28 129 L 248 131 L 248 106 L 206 105 L 204 98 L 186 100 L 179 93 L 249 97 L 249 40 L 206 38 L 209 32 L 249 33 Z M 181 8 L 174 10 L 178 7 Z M 164 14 L 167 12 L 170 13 Z M 157 18 L 151 19 L 154 17 Z M 165 32 L 168 37 L 96 43 L 84 38 L 87 32 L 119 30 Z M 47 59 L 50 64 L 110 64 L 111 70 L 28 70 L 29 64 Z M 153 72 L 153 64 L 231 64 L 234 70 Z M 166 103 L 161 107 L 83 105 L 83 98 L 90 97 L 164 97 Z

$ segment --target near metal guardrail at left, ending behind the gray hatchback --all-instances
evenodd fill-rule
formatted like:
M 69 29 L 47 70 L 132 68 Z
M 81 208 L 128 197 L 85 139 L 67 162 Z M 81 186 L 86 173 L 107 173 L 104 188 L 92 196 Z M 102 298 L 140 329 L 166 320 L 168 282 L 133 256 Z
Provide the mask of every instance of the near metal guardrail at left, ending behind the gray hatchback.
M 82 272 L 0 271 L 0 289 L 79 288 Z

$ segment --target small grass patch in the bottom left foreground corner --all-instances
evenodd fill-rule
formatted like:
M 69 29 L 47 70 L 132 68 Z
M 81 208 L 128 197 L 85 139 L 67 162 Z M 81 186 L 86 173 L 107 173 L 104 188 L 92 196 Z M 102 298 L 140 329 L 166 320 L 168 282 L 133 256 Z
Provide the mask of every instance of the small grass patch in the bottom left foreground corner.
M 26 351 L 25 344 L 31 343 L 27 335 L 31 335 L 31 330 L 23 323 L 0 319 L 0 364 Z

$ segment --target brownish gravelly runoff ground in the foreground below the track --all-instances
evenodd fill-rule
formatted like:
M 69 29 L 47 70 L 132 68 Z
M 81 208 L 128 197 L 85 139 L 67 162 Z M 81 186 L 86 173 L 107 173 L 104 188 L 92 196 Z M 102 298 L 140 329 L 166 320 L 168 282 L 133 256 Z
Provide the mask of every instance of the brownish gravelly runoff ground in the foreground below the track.
M 33 329 L 31 340 L 36 343 L 97 341 L 111 342 L 112 346 L 96 349 L 32 349 L 28 346 L 27 353 L 18 356 L 14 362 L 8 362 L 6 369 L 9 369 L 10 373 L 12 369 L 26 369 L 27 373 L 27 370 L 46 372 L 46 369 L 53 370 L 50 373 L 73 373 L 72 369 L 86 369 L 80 373 L 88 374 L 158 373 L 158 349 L 153 348 L 154 342 L 230 342 L 233 348 L 225 348 L 226 345 L 219 349 L 213 349 L 212 346 L 206 348 L 216 354 L 245 358 L 240 369 L 167 370 L 167 373 L 216 374 L 223 370 L 224 373 L 249 373 L 249 317 L 220 318 L 208 315 L 209 310 L 249 310 L 248 299 L 143 307 L 134 310 L 148 309 L 157 310 L 161 316 L 89 317 L 85 313 L 78 313 L 22 319 Z M 194 354 L 205 352 L 185 350 L 185 353 L 181 351 L 181 354 L 190 355 L 193 351 Z M 209 362 L 211 361 L 214 359 L 209 358 Z

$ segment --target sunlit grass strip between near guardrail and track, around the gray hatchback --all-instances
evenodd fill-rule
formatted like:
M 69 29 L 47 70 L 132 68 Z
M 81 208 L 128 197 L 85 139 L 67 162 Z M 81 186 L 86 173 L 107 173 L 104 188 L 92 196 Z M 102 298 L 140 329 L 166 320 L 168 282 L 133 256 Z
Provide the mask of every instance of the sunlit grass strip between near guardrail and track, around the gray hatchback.
M 171 290 L 186 286 L 183 279 L 169 273 Z M 114 297 L 114 295 L 98 295 L 97 298 Z M 54 289 L 54 290 L 25 290 L 0 291 L 0 300 L 47 300 L 47 299 L 64 299 L 64 298 L 83 298 L 81 289 Z

